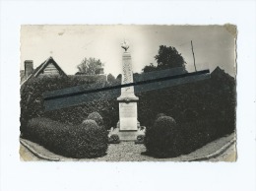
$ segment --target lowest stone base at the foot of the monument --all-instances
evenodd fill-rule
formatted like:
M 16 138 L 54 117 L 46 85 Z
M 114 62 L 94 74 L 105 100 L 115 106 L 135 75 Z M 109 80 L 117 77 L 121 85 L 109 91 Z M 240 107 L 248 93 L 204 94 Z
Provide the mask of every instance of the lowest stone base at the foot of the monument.
M 120 130 L 119 128 L 115 128 L 109 132 L 108 137 L 111 135 L 118 135 L 120 141 L 136 141 L 139 135 L 145 136 L 145 132 L 145 127 L 141 127 L 138 130 L 133 131 L 124 131 Z

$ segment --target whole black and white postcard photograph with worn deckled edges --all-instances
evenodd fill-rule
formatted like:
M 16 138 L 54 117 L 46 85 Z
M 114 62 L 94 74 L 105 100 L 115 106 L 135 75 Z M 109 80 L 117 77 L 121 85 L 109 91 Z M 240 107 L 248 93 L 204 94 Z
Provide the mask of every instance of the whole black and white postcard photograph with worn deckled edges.
M 236 26 L 24 25 L 20 159 L 236 161 Z

